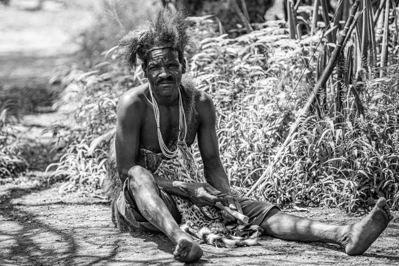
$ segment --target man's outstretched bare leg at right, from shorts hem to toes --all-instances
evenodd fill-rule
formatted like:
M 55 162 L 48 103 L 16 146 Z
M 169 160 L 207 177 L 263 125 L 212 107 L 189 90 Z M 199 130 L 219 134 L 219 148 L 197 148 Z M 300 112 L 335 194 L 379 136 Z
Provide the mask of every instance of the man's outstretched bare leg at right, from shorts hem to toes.
M 380 198 L 365 218 L 352 225 L 327 225 L 274 208 L 260 227 L 266 235 L 283 240 L 333 243 L 345 248 L 349 255 L 360 255 L 377 240 L 392 219 L 385 198 Z

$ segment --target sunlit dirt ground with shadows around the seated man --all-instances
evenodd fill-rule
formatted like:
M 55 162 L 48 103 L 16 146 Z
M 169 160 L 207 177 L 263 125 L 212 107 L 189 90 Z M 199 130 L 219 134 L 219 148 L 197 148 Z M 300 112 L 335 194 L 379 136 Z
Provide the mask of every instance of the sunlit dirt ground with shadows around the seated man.
M 47 184 L 43 172 L 31 172 L 0 184 L 0 265 L 182 265 L 164 234 L 121 233 L 111 222 L 110 206 L 99 198 L 59 195 L 60 183 Z M 343 225 L 365 213 L 312 208 L 284 211 Z M 259 246 L 238 249 L 202 245 L 194 265 L 398 265 L 399 215 L 362 256 L 342 248 L 262 237 Z

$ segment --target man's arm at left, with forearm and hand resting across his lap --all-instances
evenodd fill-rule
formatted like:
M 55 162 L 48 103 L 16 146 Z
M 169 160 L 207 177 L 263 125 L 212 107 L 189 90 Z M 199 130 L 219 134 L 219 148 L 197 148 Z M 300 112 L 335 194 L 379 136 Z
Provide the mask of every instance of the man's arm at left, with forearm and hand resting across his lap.
M 143 124 L 144 106 L 136 95 L 124 95 L 118 102 L 117 126 L 115 136 L 116 161 L 119 177 L 122 183 L 128 178 L 140 178 L 132 176 L 130 169 L 140 167 L 137 165 L 137 157 L 140 152 L 140 129 Z M 155 129 L 154 129 L 155 130 Z M 187 183 L 173 181 L 152 174 L 159 187 L 170 194 L 191 198 L 198 205 L 215 205 L 222 198 L 211 196 L 220 194 L 208 183 Z

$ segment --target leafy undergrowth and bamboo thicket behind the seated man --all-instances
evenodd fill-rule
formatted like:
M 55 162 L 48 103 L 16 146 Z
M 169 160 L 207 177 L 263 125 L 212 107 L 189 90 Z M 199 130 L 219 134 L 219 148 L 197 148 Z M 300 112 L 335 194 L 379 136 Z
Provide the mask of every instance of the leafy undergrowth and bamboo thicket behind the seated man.
M 102 197 L 118 99 L 146 82 L 116 58 L 117 40 L 145 9 L 183 5 L 201 44 L 188 74 L 214 99 L 234 187 L 280 206 L 353 210 L 384 196 L 398 209 L 399 1 L 356 2 L 333 58 L 355 1 L 102 1 L 74 56 L 48 75 L 50 111 L 69 117 L 43 131 L 49 178 L 65 180 L 59 193 Z

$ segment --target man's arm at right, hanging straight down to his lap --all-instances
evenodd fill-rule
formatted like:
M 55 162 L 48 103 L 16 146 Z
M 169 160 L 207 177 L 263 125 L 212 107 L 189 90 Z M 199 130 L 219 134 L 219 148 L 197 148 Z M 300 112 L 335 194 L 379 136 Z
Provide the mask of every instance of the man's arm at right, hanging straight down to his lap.
M 216 111 L 210 96 L 205 92 L 201 93 L 198 102 L 199 128 L 198 128 L 198 147 L 204 164 L 205 177 L 208 183 L 220 191 L 227 194 L 223 197 L 223 205 L 232 210 L 242 213 L 240 204 L 233 198 L 229 180 L 223 169 L 219 155 L 219 143 L 216 135 Z M 226 220 L 235 220 L 234 217 L 224 214 Z

